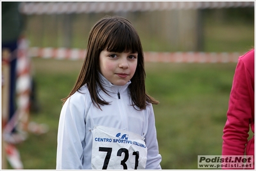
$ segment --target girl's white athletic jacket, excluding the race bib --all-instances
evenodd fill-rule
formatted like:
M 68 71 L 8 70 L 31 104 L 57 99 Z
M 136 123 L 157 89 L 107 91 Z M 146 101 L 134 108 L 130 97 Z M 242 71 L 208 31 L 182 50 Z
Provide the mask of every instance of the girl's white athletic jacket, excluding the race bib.
M 86 85 L 65 101 L 58 125 L 56 169 L 92 169 L 92 132 L 95 126 L 117 128 L 141 135 L 148 149 L 146 169 L 161 169 L 162 157 L 158 152 L 152 105 L 148 105 L 146 110 L 135 110 L 130 105 L 128 85 L 131 82 L 117 86 L 102 75 L 101 82 L 110 92 L 108 96 L 99 91 L 101 98 L 110 102 L 110 105 L 101 106 L 102 110 L 93 105 Z

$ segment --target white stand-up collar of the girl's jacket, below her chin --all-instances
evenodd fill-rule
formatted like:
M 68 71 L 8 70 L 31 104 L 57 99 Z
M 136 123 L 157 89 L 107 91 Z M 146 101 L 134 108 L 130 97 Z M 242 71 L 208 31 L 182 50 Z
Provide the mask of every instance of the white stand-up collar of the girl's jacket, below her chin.
M 125 85 L 119 86 L 114 85 L 111 82 L 107 80 L 101 73 L 99 73 L 99 80 L 101 82 L 101 85 L 104 87 L 104 89 L 109 93 L 124 93 L 128 89 L 128 85 L 130 85 L 132 82 L 129 80 Z

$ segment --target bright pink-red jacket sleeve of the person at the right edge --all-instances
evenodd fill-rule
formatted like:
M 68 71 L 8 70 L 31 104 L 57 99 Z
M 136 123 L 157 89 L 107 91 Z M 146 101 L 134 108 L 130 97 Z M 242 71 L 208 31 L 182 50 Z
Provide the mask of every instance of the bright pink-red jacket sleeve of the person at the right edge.
M 223 129 L 222 155 L 244 155 L 250 123 L 254 122 L 253 77 L 239 58 L 235 69 L 227 120 Z

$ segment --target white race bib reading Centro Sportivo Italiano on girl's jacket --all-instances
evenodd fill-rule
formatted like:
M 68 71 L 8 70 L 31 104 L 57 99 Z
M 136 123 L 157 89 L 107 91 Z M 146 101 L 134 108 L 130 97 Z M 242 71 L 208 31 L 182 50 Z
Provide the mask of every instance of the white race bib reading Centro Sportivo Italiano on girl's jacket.
M 96 126 L 92 140 L 92 169 L 145 169 L 144 138 L 130 131 Z

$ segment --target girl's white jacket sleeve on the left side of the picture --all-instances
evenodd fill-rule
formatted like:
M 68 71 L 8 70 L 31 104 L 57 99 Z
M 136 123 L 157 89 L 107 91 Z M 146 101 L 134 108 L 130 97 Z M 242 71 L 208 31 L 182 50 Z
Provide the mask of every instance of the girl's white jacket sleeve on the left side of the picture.
M 62 107 L 58 124 L 56 169 L 83 168 L 84 106 L 82 98 L 71 96 Z

